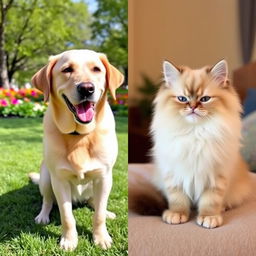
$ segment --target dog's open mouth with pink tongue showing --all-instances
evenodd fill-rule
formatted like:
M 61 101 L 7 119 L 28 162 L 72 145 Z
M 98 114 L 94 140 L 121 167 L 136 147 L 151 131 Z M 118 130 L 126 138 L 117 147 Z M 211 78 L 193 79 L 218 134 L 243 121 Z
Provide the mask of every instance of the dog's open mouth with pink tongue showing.
M 80 123 L 90 123 L 94 117 L 94 106 L 95 103 L 91 101 L 83 101 L 78 105 L 73 105 L 66 95 L 62 95 L 69 110 L 73 113 L 76 120 Z

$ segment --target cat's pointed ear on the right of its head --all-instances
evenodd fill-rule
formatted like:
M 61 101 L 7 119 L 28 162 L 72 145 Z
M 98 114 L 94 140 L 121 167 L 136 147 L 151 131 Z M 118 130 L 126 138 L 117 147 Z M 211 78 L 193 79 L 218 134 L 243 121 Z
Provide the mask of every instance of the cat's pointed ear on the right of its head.
M 211 70 L 211 75 L 214 80 L 218 82 L 220 85 L 228 84 L 228 64 L 226 60 L 221 60 L 217 64 L 215 64 Z

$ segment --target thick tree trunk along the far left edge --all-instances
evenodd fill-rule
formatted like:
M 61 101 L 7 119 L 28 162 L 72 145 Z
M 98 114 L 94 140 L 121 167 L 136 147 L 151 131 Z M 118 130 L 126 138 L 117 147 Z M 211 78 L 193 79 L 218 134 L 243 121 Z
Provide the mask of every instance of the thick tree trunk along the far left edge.
M 3 7 L 2 7 L 2 10 L 1 10 L 1 24 L 0 24 L 0 87 L 8 89 L 8 88 L 10 88 L 10 84 L 9 84 L 9 79 L 8 79 L 6 54 L 5 54 L 5 50 L 4 50 L 5 20 L 6 20 L 6 15 L 5 15 Z

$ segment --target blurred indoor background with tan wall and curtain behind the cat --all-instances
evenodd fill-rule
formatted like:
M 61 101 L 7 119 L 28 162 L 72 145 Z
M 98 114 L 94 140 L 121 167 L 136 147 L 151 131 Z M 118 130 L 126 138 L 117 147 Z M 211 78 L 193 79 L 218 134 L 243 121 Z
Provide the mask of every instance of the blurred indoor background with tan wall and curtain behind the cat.
M 163 60 L 199 68 L 225 58 L 230 78 L 241 67 L 250 69 L 245 64 L 256 59 L 255 10 L 255 0 L 129 0 L 130 163 L 150 160 L 148 125 Z

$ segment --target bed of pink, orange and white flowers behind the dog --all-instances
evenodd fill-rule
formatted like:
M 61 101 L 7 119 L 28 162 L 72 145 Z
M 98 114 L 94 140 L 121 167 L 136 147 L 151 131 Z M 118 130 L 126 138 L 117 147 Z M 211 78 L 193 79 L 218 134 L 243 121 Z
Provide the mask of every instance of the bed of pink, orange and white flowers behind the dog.
M 117 100 L 110 98 L 113 112 L 127 116 L 127 91 L 117 93 Z M 1 89 L 0 88 L 0 117 L 41 117 L 47 109 L 43 102 L 43 94 L 35 88 Z

